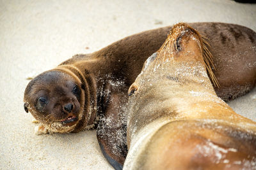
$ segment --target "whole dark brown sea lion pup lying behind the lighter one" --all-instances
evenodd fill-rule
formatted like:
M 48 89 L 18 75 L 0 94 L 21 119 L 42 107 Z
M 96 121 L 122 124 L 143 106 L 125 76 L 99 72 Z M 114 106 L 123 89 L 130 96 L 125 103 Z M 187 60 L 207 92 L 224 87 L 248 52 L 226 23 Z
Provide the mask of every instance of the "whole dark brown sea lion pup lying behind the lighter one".
M 235 24 L 191 23 L 208 38 L 222 99 L 251 90 L 256 76 L 256 34 Z M 127 90 L 145 60 L 164 43 L 171 27 L 141 32 L 102 50 L 75 55 L 31 80 L 24 108 L 40 132 L 78 132 L 97 122 L 97 138 L 111 164 L 122 167 L 126 147 Z

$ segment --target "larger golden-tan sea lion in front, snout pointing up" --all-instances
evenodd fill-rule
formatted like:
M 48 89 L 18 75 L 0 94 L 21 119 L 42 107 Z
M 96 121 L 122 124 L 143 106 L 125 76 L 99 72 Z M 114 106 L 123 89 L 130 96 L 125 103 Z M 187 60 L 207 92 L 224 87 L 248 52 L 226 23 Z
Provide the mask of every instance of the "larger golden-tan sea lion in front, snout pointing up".
M 256 122 L 216 95 L 206 48 L 180 23 L 145 62 L 129 89 L 125 170 L 256 169 Z

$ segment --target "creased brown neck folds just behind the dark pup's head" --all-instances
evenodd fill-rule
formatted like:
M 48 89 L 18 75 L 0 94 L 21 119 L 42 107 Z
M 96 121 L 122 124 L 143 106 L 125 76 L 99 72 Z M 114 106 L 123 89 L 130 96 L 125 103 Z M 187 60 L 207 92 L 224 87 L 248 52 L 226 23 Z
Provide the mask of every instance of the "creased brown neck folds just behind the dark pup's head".
M 92 128 L 97 115 L 97 85 L 94 74 L 87 69 L 81 70 L 81 68 L 71 65 L 60 65 L 55 70 L 76 76 L 81 81 L 81 88 L 84 91 L 84 99 L 81 100 L 81 115 L 83 117 L 73 132 Z

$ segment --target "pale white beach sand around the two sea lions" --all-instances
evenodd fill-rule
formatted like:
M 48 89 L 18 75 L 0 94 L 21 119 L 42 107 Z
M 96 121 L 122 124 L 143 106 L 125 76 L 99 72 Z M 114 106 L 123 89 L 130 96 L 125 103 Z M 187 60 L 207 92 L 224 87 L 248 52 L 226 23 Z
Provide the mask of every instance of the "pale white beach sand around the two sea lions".
M 255 18 L 256 5 L 229 0 L 0 1 L 0 169 L 112 169 L 95 131 L 34 134 L 22 101 L 31 73 L 148 29 L 216 21 L 256 31 Z M 256 120 L 256 89 L 230 106 Z

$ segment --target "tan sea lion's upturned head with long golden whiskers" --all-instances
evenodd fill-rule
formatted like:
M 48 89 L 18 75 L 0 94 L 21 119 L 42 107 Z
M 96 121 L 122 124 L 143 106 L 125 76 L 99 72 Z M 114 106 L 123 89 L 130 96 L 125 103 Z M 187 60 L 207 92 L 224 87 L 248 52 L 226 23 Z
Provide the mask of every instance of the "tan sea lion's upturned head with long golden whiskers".
M 212 54 L 208 48 L 207 39 L 200 36 L 188 24 L 179 23 L 174 25 L 161 48 L 145 61 L 141 73 L 129 88 L 128 95 L 131 96 L 141 86 L 150 84 L 147 83 L 149 79 L 152 80 L 155 78 L 159 81 L 163 78 L 169 78 L 175 80 L 178 77 L 170 76 L 169 73 L 173 73 L 177 69 L 182 71 L 182 67 L 186 66 L 192 69 L 193 67 L 202 66 L 207 71 L 212 84 L 219 87 L 219 83 L 212 72 L 212 69 L 215 69 L 215 67 L 213 65 Z

